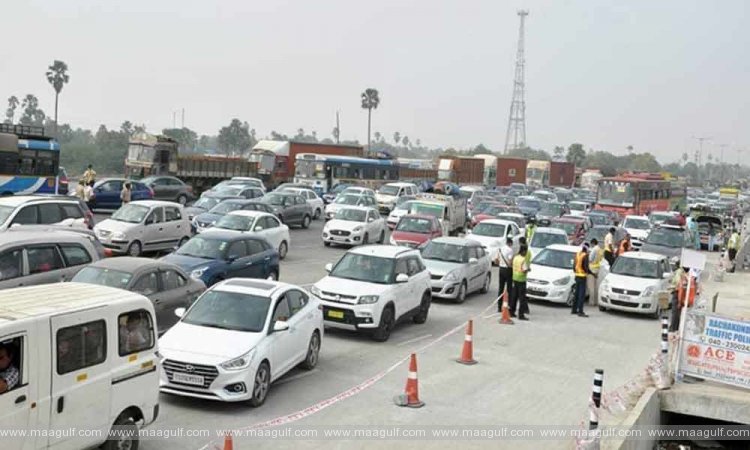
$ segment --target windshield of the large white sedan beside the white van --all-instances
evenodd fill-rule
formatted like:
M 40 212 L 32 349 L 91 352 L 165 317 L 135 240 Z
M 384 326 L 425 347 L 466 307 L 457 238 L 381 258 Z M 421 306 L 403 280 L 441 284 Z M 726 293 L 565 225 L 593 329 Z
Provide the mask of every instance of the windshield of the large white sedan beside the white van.
M 222 330 L 263 331 L 271 299 L 238 292 L 208 291 L 185 313 L 182 322 Z

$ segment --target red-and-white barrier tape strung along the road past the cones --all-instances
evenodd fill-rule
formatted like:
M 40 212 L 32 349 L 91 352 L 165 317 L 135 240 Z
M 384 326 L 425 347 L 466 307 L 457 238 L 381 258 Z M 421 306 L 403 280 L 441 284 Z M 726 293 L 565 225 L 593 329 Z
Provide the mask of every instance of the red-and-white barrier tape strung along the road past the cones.
M 471 318 L 475 319 L 475 318 L 478 318 L 478 317 L 482 316 L 487 311 L 489 311 L 490 308 L 492 308 L 499 300 L 500 300 L 500 297 L 496 298 L 489 305 L 487 305 L 487 308 L 485 308 L 484 310 L 482 310 L 478 314 L 472 316 Z M 415 350 L 413 352 L 409 352 L 405 357 L 401 358 L 400 360 L 398 360 L 397 362 L 395 362 L 392 366 L 388 367 L 384 371 L 378 373 L 377 375 L 375 375 L 373 377 L 368 378 L 367 380 L 363 381 L 362 383 L 360 383 L 360 384 L 358 384 L 356 386 L 353 386 L 353 387 L 351 387 L 351 388 L 349 388 L 349 389 L 347 389 L 347 390 L 345 390 L 345 391 L 343 391 L 343 392 L 341 392 L 339 394 L 334 395 L 333 397 L 330 397 L 330 398 L 327 398 L 325 400 L 322 400 L 322 401 L 320 401 L 318 403 L 315 403 L 315 404 L 313 404 L 311 406 L 308 406 L 305 409 L 301 409 L 301 410 L 293 412 L 291 414 L 280 416 L 280 417 L 277 417 L 275 419 L 267 420 L 267 421 L 264 421 L 264 422 L 259 422 L 259 423 L 256 423 L 254 425 L 250 425 L 250 426 L 247 426 L 247 427 L 233 428 L 233 430 L 244 431 L 244 430 L 257 430 L 257 429 L 262 429 L 262 428 L 277 427 L 277 426 L 280 426 L 280 425 L 286 425 L 288 423 L 296 422 L 298 420 L 304 419 L 305 417 L 309 417 L 309 416 L 311 416 L 313 414 L 316 414 L 316 413 L 324 410 L 325 408 L 328 408 L 329 406 L 335 405 L 336 403 L 338 403 L 338 402 L 340 402 L 342 400 L 346 400 L 347 398 L 350 398 L 350 397 L 353 397 L 353 396 L 359 394 L 360 392 L 362 392 L 365 389 L 369 388 L 370 386 L 374 385 L 378 381 L 382 380 L 386 375 L 388 375 L 389 373 L 391 373 L 394 370 L 396 370 L 401 364 L 403 364 L 406 361 L 408 361 L 409 358 L 411 358 L 411 354 L 412 353 L 421 353 L 421 352 L 424 352 L 428 348 L 432 347 L 433 345 L 437 344 L 438 342 L 442 341 L 443 339 L 447 338 L 448 336 L 450 336 L 452 334 L 455 334 L 455 333 L 457 333 L 460 330 L 463 330 L 464 328 L 465 328 L 465 324 L 462 323 L 461 325 L 458 325 L 455 328 L 452 328 L 452 329 L 448 330 L 446 333 L 440 335 L 435 340 L 433 340 L 433 341 L 431 341 L 431 342 L 423 345 L 422 347 L 420 347 L 419 349 L 417 349 L 417 350 Z M 211 442 L 207 443 L 206 445 L 204 445 L 203 447 L 201 447 L 199 450 L 207 450 L 213 444 L 214 444 L 214 441 L 211 441 Z

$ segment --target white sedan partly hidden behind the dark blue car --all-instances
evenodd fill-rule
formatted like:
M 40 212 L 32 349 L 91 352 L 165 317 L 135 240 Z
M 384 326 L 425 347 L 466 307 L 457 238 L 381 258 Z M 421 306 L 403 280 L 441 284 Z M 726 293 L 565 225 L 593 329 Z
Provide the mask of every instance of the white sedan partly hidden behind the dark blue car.
M 265 238 L 273 248 L 278 250 L 279 258 L 284 259 L 289 252 L 289 227 L 281 223 L 276 216 L 262 211 L 232 211 L 216 222 L 216 225 L 204 231 L 236 231 L 249 233 Z

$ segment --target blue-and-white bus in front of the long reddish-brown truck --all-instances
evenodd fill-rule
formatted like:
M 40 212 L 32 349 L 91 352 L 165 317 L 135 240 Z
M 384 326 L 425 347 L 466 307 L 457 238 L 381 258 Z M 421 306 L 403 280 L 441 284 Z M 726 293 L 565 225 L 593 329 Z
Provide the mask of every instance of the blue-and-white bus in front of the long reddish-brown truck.
M 299 153 L 294 165 L 294 183 L 310 186 L 320 195 L 341 183 L 377 189 L 399 179 L 399 163 L 393 159 Z

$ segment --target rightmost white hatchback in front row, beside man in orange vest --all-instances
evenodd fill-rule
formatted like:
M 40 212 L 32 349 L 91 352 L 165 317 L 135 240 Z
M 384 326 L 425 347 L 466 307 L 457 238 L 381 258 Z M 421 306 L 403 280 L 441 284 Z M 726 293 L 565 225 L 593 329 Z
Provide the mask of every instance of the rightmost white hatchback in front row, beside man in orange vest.
M 669 287 L 672 265 L 669 258 L 650 252 L 620 255 L 599 289 L 599 310 L 628 311 L 661 316 L 659 292 Z

